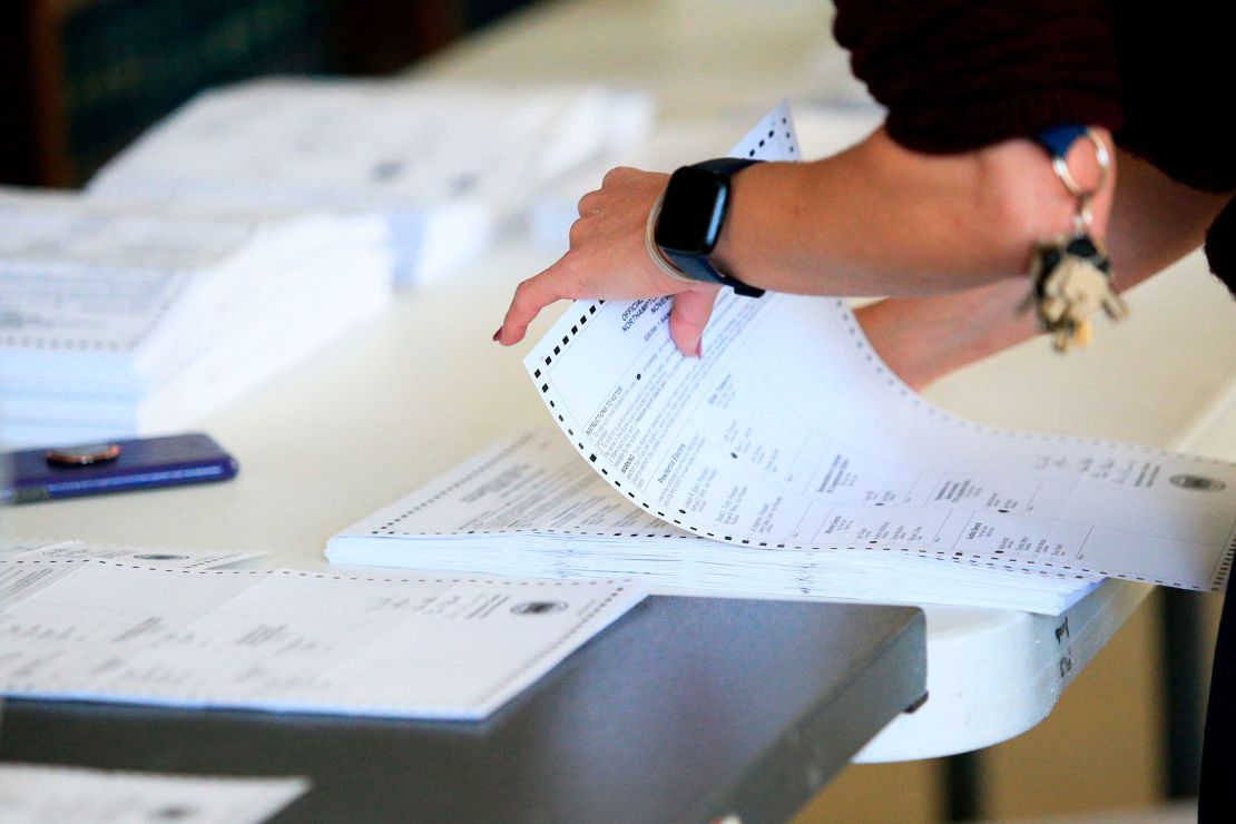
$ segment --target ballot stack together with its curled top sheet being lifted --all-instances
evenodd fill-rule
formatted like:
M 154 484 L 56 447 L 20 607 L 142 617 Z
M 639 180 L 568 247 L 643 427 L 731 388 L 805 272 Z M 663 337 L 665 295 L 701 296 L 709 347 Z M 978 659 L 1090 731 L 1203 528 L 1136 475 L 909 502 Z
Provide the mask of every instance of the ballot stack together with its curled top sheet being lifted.
M 787 107 L 732 154 L 795 159 Z M 836 298 L 723 290 L 701 358 L 677 352 L 670 308 L 576 301 L 527 357 L 574 462 L 517 440 L 328 557 L 1053 614 L 1104 577 L 1226 587 L 1236 465 L 950 415 Z

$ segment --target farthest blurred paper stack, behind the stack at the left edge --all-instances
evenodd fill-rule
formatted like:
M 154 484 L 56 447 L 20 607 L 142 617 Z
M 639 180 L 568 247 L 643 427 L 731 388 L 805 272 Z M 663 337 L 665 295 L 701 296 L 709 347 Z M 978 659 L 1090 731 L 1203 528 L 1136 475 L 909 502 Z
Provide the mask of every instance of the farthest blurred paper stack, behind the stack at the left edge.
M 200 95 L 91 182 L 96 195 L 381 211 L 397 277 L 466 264 L 509 216 L 650 131 L 650 98 L 598 86 L 265 79 Z

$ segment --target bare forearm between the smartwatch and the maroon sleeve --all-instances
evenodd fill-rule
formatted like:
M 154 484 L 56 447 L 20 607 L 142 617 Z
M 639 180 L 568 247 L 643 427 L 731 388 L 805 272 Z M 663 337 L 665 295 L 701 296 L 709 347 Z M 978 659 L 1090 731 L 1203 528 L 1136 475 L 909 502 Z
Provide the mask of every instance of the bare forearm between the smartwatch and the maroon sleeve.
M 1080 179 L 1094 179 L 1093 152 L 1069 159 Z M 1100 236 L 1110 196 L 1109 175 L 1094 204 Z M 1075 206 L 1031 141 L 937 156 L 878 131 L 824 161 L 737 175 L 714 257 L 777 292 L 955 292 L 1023 274 L 1035 241 L 1067 231 Z

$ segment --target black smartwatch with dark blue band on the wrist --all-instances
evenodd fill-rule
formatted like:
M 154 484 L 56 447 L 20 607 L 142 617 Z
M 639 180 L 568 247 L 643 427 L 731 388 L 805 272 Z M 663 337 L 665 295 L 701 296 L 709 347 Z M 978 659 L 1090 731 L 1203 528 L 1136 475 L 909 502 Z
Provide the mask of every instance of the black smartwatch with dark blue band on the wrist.
M 677 279 L 719 283 L 737 294 L 759 298 L 763 289 L 719 272 L 708 256 L 717 248 L 726 225 L 733 175 L 753 163 L 749 158 L 723 157 L 684 166 L 665 187 L 649 217 L 649 253 L 655 263 Z M 655 248 L 654 248 L 655 246 Z M 660 259 L 658 259 L 658 257 Z M 672 273 L 671 273 L 672 269 Z

